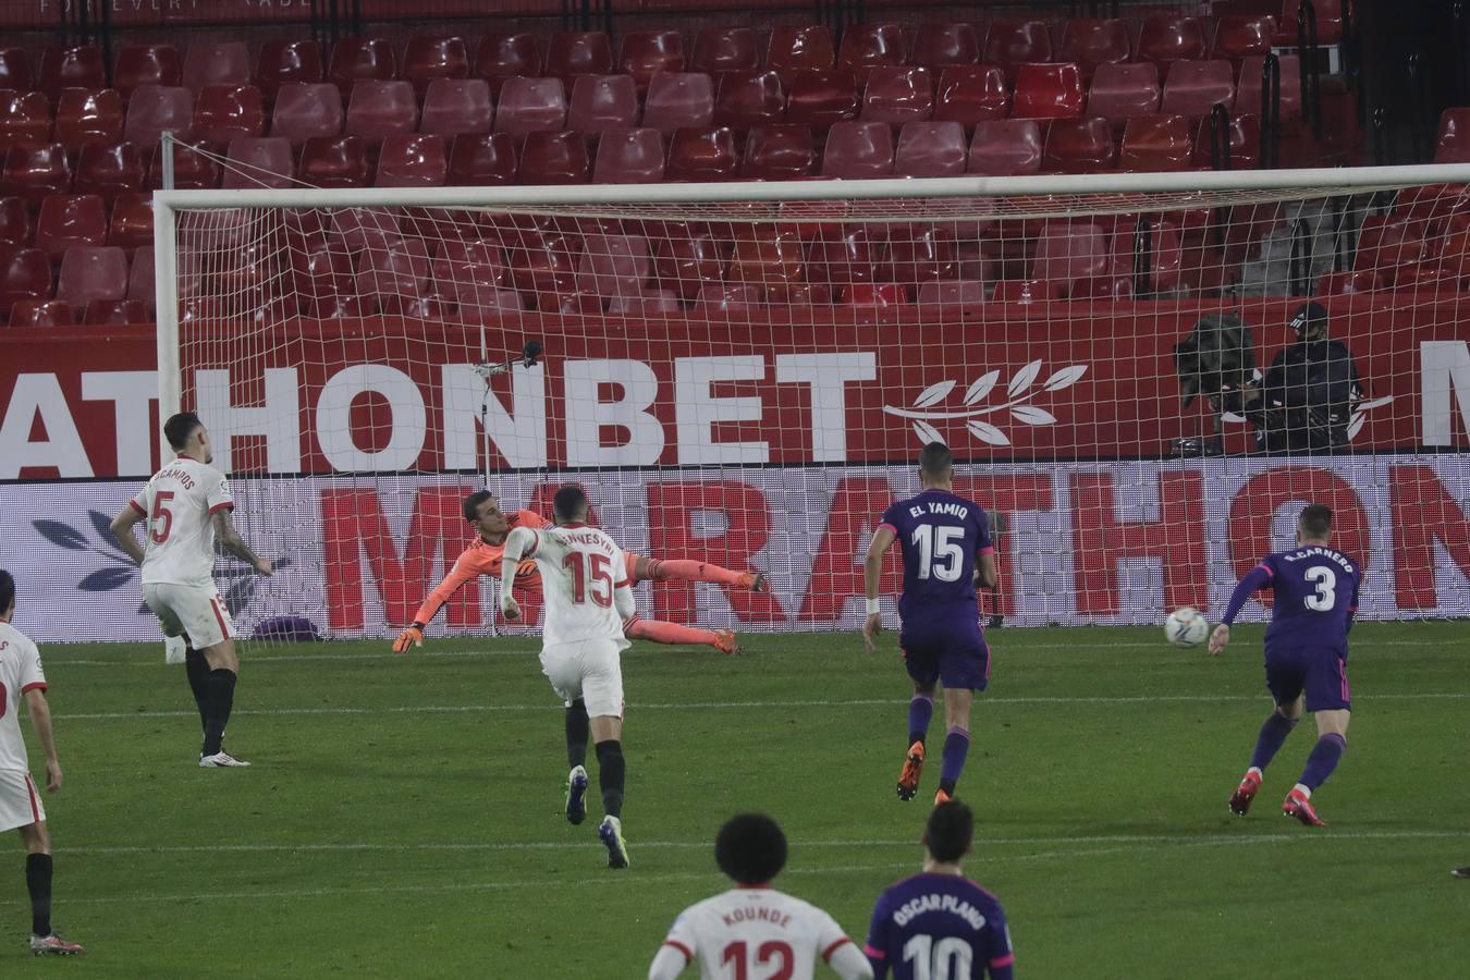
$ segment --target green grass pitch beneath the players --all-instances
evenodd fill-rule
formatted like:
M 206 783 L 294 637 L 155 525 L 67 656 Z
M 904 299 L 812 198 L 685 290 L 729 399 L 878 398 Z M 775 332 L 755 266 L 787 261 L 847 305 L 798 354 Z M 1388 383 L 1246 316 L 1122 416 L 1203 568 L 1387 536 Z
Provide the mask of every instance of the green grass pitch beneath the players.
M 967 871 L 1004 902 L 1020 976 L 1464 976 L 1467 635 L 1354 630 L 1349 748 L 1313 832 L 1277 808 L 1310 720 L 1257 811 L 1226 810 L 1270 708 L 1258 626 L 1219 660 L 1157 629 L 992 633 L 960 796 Z M 938 780 L 935 764 L 917 801 L 894 795 L 892 633 L 876 655 L 850 633 L 753 635 L 738 660 L 628 651 L 622 873 L 595 840 L 595 765 L 592 817 L 560 815 L 562 714 L 531 639 L 245 649 L 238 771 L 194 765 L 162 645 L 43 655 L 66 771 L 46 801 L 56 923 L 88 952 L 25 951 L 9 835 L 4 977 L 642 977 L 679 909 L 725 887 L 710 842 L 738 810 L 781 820 L 778 884 L 861 942 L 873 898 L 919 865 Z

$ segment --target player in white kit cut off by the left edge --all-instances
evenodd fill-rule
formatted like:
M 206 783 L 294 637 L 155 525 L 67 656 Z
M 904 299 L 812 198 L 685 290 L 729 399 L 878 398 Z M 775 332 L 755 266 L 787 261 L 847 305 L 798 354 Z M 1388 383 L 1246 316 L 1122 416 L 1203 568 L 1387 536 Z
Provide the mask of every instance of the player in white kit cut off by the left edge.
M 0 832 L 19 830 L 25 845 L 25 887 L 31 893 L 31 952 L 37 956 L 81 952 L 51 930 L 51 833 L 46 808 L 31 779 L 31 760 L 21 738 L 21 704 L 31 711 L 31 726 L 46 752 L 46 789 L 62 788 L 56 760 L 51 710 L 46 704 L 41 654 L 31 638 L 10 626 L 15 616 L 15 579 L 0 569 Z

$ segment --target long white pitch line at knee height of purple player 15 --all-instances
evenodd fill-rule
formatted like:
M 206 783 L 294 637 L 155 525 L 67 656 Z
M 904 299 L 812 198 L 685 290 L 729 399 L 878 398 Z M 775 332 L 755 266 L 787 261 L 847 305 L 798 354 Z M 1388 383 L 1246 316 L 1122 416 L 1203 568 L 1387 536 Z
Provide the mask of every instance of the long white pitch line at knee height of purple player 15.
M 1238 701 L 1264 702 L 1267 695 L 1125 695 L 1097 698 L 985 698 L 976 704 L 1008 705 L 1008 704 L 1223 704 Z M 1470 692 L 1460 691 L 1427 691 L 1421 693 L 1377 693 L 1366 695 L 1363 701 L 1457 701 L 1470 698 Z M 742 708 L 861 708 L 872 705 L 900 705 L 895 698 L 853 698 L 853 699 L 811 699 L 811 701 L 669 701 L 659 704 L 631 704 L 631 711 L 688 711 L 688 710 L 742 710 Z M 390 705 L 382 708 L 256 708 L 237 710 L 238 716 L 351 716 L 351 714 L 512 714 L 522 711 L 556 711 L 560 710 L 553 699 L 541 704 L 462 704 L 462 705 Z M 122 718 L 197 718 L 198 711 L 103 711 L 82 714 L 51 716 L 66 721 L 112 721 Z

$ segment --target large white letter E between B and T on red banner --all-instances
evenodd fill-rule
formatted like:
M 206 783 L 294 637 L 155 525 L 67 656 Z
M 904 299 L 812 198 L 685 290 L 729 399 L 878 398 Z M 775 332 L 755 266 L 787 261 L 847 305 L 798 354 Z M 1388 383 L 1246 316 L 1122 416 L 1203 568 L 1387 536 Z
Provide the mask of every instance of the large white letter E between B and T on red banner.
M 760 397 L 717 398 L 717 381 L 761 381 L 766 359 L 678 357 L 673 361 L 673 419 L 679 433 L 679 466 L 769 463 L 769 442 L 716 442 L 714 423 L 761 419 Z

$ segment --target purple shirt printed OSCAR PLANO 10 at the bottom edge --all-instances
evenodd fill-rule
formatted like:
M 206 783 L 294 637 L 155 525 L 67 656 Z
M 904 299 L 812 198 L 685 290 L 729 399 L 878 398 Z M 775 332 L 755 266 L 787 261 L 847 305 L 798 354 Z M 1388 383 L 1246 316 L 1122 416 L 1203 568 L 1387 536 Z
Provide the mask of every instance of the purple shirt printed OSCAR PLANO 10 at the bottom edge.
M 1014 976 L 1001 904 L 957 874 L 916 874 L 879 895 L 864 952 L 878 980 Z

